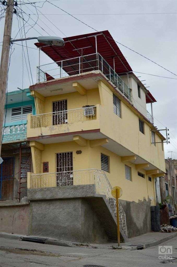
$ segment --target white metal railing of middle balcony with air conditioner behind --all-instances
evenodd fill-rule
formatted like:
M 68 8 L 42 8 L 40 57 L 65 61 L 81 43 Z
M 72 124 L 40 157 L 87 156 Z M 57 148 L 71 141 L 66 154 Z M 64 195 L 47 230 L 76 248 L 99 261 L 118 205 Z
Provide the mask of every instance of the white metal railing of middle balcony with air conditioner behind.
M 96 106 L 90 106 L 85 108 L 68 109 L 64 111 L 32 115 L 31 128 L 95 120 L 97 118 L 96 111 Z

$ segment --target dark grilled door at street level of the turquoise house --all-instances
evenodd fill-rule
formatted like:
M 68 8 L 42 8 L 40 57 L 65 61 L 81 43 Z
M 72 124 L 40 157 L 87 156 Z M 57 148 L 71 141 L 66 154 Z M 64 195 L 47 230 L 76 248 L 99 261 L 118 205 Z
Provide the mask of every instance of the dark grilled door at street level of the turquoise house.
M 14 157 L 3 158 L 0 165 L 0 199 L 13 199 Z

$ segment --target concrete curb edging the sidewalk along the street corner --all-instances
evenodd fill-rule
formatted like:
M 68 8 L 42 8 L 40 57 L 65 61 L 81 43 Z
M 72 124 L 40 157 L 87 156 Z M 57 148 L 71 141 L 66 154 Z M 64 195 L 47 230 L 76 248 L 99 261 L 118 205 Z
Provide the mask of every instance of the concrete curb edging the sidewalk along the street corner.
M 149 243 L 146 243 L 146 244 L 142 244 L 141 247 L 143 246 L 143 248 L 149 248 L 149 247 L 152 247 L 152 246 L 156 246 L 156 245 L 159 245 L 171 238 L 174 238 L 177 236 L 177 232 L 169 235 L 169 236 L 166 236 L 166 237 L 163 237 L 159 240 L 156 240 L 156 241 L 152 241 L 152 242 L 149 242 Z M 1 238 L 8 238 L 8 239 L 16 239 L 16 240 L 21 240 L 22 237 L 26 237 L 26 235 L 19 235 L 19 234 L 10 234 L 10 233 L 4 233 L 4 232 L 0 232 L 0 237 Z M 28 235 L 28 237 L 30 237 L 30 235 Z M 41 238 L 41 237 L 39 237 Z M 47 241 L 44 243 L 44 244 L 47 244 L 47 245 L 55 245 L 55 246 L 65 246 L 65 247 L 88 247 L 88 248 L 104 248 L 104 249 L 113 249 L 112 248 L 112 245 L 102 245 L 102 244 L 95 244 L 96 246 L 93 246 L 93 244 L 84 244 L 84 243 L 77 243 L 77 242 L 70 242 L 70 241 L 61 241 L 61 240 L 57 240 L 57 239 L 52 239 L 52 238 L 47 238 L 47 237 L 43 237 L 43 238 L 46 238 Z M 122 245 L 124 243 L 121 243 Z M 123 249 L 130 249 L 130 250 L 137 250 L 138 247 L 140 245 L 137 244 L 137 246 L 131 246 L 131 245 L 123 245 L 122 248 Z

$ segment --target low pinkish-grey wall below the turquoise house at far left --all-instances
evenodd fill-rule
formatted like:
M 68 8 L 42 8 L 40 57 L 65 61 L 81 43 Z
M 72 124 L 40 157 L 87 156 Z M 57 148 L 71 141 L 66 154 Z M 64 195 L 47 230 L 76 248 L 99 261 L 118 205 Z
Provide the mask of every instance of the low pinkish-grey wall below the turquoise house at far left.
M 0 206 L 0 232 L 28 234 L 29 205 L 9 204 Z

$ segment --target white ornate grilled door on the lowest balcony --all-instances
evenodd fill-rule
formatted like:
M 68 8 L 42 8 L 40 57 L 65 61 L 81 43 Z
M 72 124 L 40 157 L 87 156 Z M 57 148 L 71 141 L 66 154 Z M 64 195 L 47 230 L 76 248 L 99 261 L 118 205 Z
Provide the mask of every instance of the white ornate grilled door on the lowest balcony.
M 56 154 L 57 186 L 73 185 L 72 152 Z

